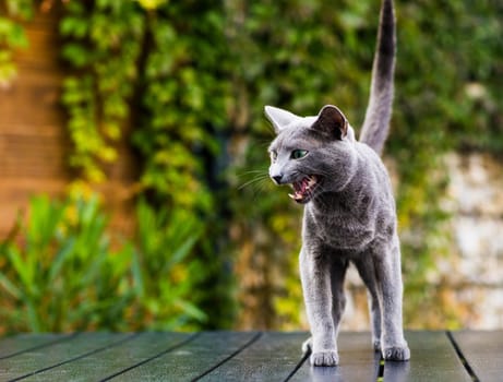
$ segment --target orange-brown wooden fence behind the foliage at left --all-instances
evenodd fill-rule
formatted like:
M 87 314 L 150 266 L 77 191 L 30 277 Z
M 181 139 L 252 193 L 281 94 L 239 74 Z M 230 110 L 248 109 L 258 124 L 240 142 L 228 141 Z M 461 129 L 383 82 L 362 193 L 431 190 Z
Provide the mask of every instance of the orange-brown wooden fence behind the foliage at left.
M 29 47 L 16 51 L 17 77 L 0 88 L 0 238 L 12 229 L 19 212 L 26 212 L 32 195 L 62 195 L 73 179 L 60 104 L 68 69 L 60 59 L 58 14 L 55 4 L 25 24 Z M 137 165 L 125 143 L 118 150 L 120 160 L 107 169 L 109 181 L 99 191 L 115 228 L 129 231 Z

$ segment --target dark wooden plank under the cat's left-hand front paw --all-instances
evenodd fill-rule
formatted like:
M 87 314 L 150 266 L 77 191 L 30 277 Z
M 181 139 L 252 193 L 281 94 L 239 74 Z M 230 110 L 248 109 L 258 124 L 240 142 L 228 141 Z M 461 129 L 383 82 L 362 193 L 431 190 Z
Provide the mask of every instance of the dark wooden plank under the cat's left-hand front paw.
M 371 334 L 367 332 L 340 333 L 337 342 L 339 366 L 312 367 L 309 361 L 306 361 L 290 381 L 375 381 L 381 357 L 373 350 L 371 343 Z M 298 353 L 300 353 L 300 344 L 296 344 Z

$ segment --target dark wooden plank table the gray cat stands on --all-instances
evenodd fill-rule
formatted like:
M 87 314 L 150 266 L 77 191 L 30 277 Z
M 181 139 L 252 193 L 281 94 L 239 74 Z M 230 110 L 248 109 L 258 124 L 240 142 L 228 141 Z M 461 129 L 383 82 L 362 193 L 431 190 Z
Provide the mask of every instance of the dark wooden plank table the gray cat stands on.
M 369 333 L 339 335 L 340 365 L 313 368 L 307 333 L 22 334 L 0 341 L 0 381 L 503 381 L 503 331 L 406 332 L 384 362 Z

